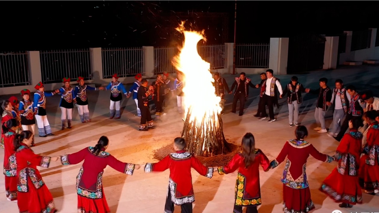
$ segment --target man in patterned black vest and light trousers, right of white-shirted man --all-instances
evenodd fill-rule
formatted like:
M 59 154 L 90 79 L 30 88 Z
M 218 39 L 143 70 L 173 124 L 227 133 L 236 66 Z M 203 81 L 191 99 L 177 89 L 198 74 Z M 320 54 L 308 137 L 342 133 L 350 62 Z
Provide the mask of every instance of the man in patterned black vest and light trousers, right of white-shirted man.
M 298 77 L 292 76 L 291 82 L 283 89 L 283 94 L 287 93 L 287 103 L 288 103 L 288 120 L 290 127 L 295 124 L 298 126 L 299 123 L 299 105 L 302 103 L 301 93 L 305 92 L 305 88 L 301 83 L 298 82 Z M 282 98 L 282 95 L 280 95 Z

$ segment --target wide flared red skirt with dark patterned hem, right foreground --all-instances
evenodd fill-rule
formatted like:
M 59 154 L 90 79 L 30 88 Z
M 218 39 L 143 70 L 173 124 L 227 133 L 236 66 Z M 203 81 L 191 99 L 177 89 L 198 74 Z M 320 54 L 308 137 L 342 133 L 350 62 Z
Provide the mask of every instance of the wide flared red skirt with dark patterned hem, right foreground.
M 324 180 L 321 191 L 335 202 L 362 204 L 362 188 L 357 176 L 341 175 L 337 168 Z

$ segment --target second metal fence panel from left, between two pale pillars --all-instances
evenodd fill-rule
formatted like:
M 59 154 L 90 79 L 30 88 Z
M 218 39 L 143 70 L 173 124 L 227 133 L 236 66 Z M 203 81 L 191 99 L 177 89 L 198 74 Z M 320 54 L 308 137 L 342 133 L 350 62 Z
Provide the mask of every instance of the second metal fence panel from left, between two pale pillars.
M 42 83 L 59 83 L 62 78 L 75 81 L 81 76 L 92 79 L 89 49 L 41 51 Z

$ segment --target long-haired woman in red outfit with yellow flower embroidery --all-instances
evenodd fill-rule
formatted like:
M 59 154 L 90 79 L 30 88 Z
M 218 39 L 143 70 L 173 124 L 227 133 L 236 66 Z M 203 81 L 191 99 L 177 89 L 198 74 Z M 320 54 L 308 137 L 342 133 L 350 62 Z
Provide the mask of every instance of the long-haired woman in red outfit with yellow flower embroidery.
M 258 213 L 257 206 L 262 204 L 259 183 L 259 165 L 267 172 L 270 161 L 260 149 L 255 149 L 255 139 L 251 133 L 242 138 L 242 151 L 237 153 L 226 165 L 218 168 L 219 174 L 229 174 L 238 169 L 233 213 Z

